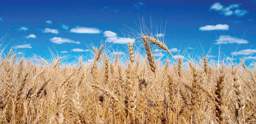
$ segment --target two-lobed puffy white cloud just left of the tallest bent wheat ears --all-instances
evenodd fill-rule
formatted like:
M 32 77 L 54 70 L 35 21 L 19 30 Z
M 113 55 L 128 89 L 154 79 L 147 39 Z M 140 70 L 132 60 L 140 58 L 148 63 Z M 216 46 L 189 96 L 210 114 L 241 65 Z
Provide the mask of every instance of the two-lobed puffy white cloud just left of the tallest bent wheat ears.
M 104 36 L 107 37 L 107 42 L 109 43 L 129 43 L 131 41 L 134 43 L 135 39 L 132 38 L 124 38 L 124 37 L 117 37 L 117 34 L 112 31 L 104 31 Z

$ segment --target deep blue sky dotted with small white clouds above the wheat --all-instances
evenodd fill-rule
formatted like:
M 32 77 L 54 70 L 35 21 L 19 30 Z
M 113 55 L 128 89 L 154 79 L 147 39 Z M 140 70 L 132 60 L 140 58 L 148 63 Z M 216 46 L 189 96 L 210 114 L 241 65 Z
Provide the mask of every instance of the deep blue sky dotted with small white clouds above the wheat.
M 1 49 L 7 45 L 25 57 L 36 54 L 46 59 L 50 49 L 69 59 L 80 55 L 91 59 L 92 46 L 105 43 L 109 54 L 123 54 L 128 41 L 141 45 L 134 31 L 140 30 L 143 18 L 148 27 L 152 22 L 153 35 L 174 55 L 187 59 L 208 55 L 216 62 L 221 45 L 222 59 L 242 58 L 248 64 L 256 60 L 255 12 L 255 0 L 2 1 L 0 36 L 7 35 Z M 169 56 L 156 48 L 155 57 Z

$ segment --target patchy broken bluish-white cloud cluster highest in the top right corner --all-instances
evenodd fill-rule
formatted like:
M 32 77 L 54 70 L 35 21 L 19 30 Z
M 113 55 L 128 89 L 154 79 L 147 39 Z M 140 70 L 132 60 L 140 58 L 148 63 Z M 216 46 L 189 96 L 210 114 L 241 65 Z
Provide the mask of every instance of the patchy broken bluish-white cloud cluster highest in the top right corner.
M 235 15 L 241 17 L 249 13 L 249 11 L 247 10 L 240 9 L 240 6 L 241 4 L 232 4 L 226 7 L 223 6 L 220 2 L 216 2 L 211 6 L 210 10 L 219 11 L 221 14 L 224 14 L 225 16 Z

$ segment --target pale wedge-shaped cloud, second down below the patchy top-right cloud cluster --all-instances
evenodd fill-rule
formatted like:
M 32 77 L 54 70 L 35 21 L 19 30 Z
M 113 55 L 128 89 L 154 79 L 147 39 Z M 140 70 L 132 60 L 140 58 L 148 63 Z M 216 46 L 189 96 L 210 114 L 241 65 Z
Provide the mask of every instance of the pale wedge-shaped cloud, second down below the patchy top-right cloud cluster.
M 236 38 L 236 37 L 231 37 L 230 35 L 222 35 L 219 37 L 219 39 L 215 40 L 216 43 L 215 44 L 228 44 L 228 43 L 237 43 L 237 44 L 240 44 L 240 43 L 248 43 L 247 40 L 244 40 L 244 39 L 239 39 L 239 38 Z

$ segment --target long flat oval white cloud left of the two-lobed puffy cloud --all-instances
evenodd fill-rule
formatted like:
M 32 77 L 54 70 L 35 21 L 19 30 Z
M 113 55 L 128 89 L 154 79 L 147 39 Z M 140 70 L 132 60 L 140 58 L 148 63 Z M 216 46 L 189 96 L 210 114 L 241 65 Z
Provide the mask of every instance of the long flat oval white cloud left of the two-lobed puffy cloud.
M 72 33 L 101 33 L 98 28 L 75 27 L 70 30 Z

